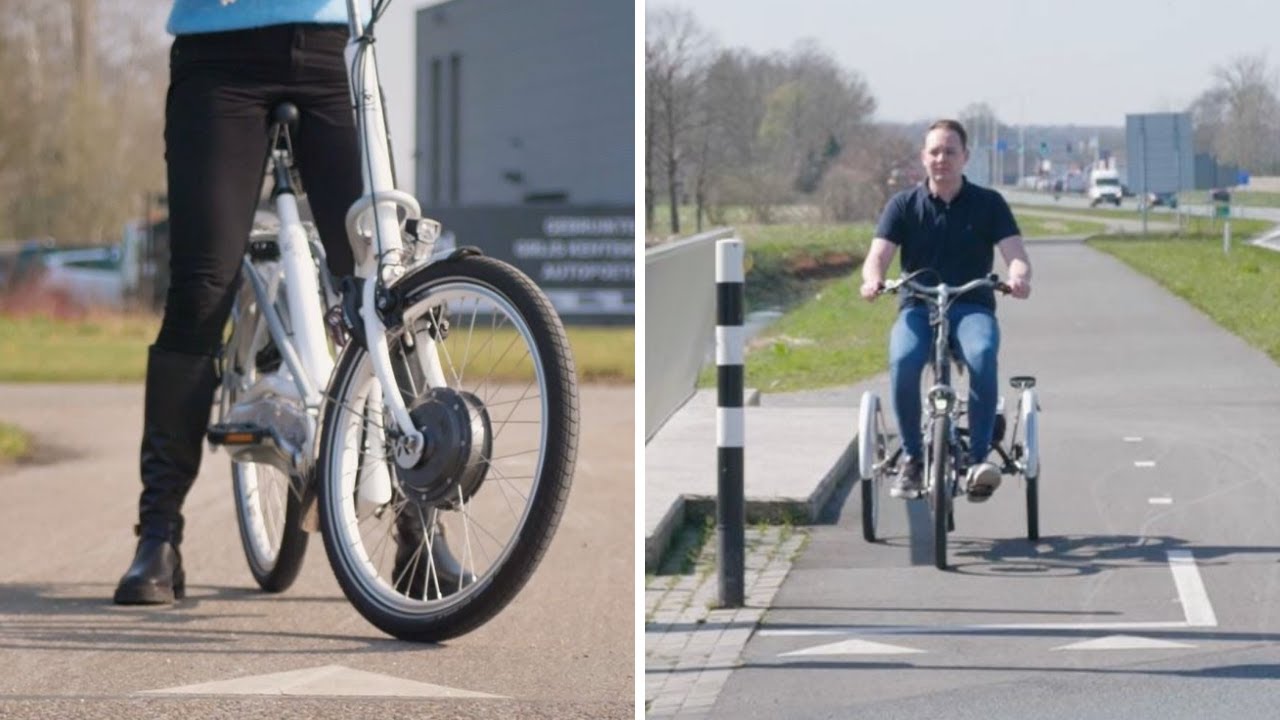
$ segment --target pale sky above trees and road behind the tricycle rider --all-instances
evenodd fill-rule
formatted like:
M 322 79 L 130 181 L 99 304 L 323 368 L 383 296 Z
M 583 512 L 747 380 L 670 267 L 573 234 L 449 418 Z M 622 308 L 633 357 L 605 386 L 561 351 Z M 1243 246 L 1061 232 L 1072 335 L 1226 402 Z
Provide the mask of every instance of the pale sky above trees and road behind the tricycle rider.
M 721 47 L 815 40 L 856 70 L 877 119 L 916 122 L 986 101 L 1007 124 L 1123 127 L 1180 111 L 1215 67 L 1266 53 L 1280 67 L 1276 0 L 658 0 Z

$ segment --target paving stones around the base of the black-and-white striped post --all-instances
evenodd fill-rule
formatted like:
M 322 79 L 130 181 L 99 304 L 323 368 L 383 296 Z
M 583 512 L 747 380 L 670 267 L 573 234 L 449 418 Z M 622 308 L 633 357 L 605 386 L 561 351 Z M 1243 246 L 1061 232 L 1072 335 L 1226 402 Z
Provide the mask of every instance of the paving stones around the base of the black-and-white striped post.
M 716 609 L 716 536 L 708 536 L 689 575 L 655 575 L 645 584 L 645 715 L 705 717 L 746 641 L 755 632 L 809 533 L 791 525 L 746 529 L 745 607 Z

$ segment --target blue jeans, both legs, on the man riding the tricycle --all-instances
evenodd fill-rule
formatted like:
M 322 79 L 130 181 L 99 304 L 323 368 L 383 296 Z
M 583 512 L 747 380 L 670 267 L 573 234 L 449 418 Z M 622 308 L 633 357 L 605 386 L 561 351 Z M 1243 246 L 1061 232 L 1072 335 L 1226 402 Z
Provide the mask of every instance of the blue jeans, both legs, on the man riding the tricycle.
M 951 346 L 959 345 L 969 372 L 969 448 L 970 462 L 982 462 L 991 452 L 996 429 L 996 400 L 1000 379 L 1000 324 L 982 305 L 955 304 L 947 311 Z M 933 354 L 929 309 L 915 305 L 899 313 L 888 336 L 890 380 L 893 386 L 893 414 L 902 433 L 902 450 L 910 457 L 923 457 L 920 432 L 920 377 Z M 952 384 L 955 377 L 952 375 Z

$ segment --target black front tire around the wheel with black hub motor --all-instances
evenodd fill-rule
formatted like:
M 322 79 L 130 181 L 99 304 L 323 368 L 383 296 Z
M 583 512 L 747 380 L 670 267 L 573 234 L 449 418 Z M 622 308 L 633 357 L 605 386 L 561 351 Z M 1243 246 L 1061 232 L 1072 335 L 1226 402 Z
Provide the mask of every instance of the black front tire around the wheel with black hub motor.
M 547 447 L 543 474 L 531 492 L 527 520 L 521 527 L 520 537 L 515 541 L 507 560 L 493 575 L 479 580 L 480 587 L 471 591 L 472 596 L 466 602 L 434 612 L 415 615 L 396 612 L 394 609 L 385 607 L 361 593 L 361 584 L 347 564 L 346 548 L 337 541 L 337 533 L 332 529 L 339 507 L 335 502 L 343 501 L 334 498 L 333 486 L 328 480 L 328 464 L 333 455 L 330 450 L 335 442 L 334 424 L 337 414 L 342 410 L 340 402 L 334 402 L 333 398 L 344 396 L 347 386 L 353 379 L 352 373 L 365 354 L 360 343 L 352 342 L 346 347 L 334 370 L 332 382 L 334 395 L 326 404 L 321 428 L 317 486 L 325 552 L 343 594 L 365 620 L 392 637 L 411 642 L 440 642 L 463 635 L 489 621 L 516 597 L 547 552 L 568 501 L 577 456 L 576 370 L 564 327 L 550 300 L 532 281 L 507 263 L 476 255 L 460 255 L 420 268 L 402 279 L 399 288 L 404 305 L 412 305 L 431 287 L 451 281 L 475 282 L 500 293 L 526 323 L 543 360 L 547 378 Z

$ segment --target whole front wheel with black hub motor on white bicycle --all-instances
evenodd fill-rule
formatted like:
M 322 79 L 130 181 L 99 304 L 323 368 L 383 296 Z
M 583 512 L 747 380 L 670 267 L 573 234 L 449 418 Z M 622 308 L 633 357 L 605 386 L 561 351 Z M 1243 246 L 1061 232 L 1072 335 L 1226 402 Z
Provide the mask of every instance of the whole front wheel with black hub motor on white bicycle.
M 394 460 L 394 423 L 353 341 L 321 430 L 320 521 L 356 610 L 438 642 L 497 615 L 547 551 L 577 455 L 577 384 L 559 318 L 511 265 L 462 256 L 399 288 L 388 346 L 428 451 L 413 468 Z

